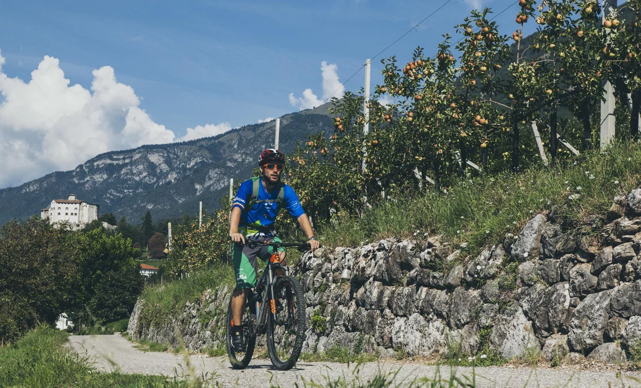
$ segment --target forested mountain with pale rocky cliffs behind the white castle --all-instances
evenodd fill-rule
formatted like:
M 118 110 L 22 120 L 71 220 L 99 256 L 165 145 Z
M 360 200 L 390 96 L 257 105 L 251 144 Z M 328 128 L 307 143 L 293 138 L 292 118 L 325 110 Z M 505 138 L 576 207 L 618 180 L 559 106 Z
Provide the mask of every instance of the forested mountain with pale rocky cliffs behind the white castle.
M 287 154 L 309 133 L 333 133 L 330 106 L 281 117 L 279 148 Z M 273 120 L 210 138 L 106 152 L 74 170 L 0 189 L 0 225 L 39 216 L 51 200 L 69 194 L 99 205 L 100 214 L 112 212 L 132 223 L 147 210 L 154 220 L 197 214 L 199 201 L 213 210 L 229 195 L 230 178 L 251 177 L 260 152 L 274 145 L 275 127 Z

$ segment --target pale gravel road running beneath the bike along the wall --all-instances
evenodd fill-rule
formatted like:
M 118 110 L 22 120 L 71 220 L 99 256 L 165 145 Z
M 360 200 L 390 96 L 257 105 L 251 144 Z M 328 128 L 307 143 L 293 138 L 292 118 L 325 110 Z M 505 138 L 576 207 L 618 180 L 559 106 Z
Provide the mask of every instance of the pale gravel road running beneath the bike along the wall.
M 185 357 L 175 353 L 142 352 L 121 335 L 73 335 L 69 337 L 69 346 L 81 354 L 95 359 L 96 368 L 104 371 L 119 370 L 122 373 L 141 373 L 146 375 L 187 375 Z M 190 356 L 190 365 L 196 375 L 215 374 L 216 381 L 224 387 L 240 385 L 242 387 L 269 387 L 281 385 L 293 387 L 298 383 L 303 386 L 303 379 L 326 385 L 326 379 L 335 380 L 345 376 L 347 381 L 354 378 L 354 364 L 336 362 L 303 362 L 296 368 L 281 372 L 271 368 L 269 360 L 252 360 L 244 371 L 231 369 L 226 357 Z M 434 378 L 437 366 L 414 362 L 369 362 L 360 366 L 358 376 L 362 382 L 376 375 L 378 370 L 397 373 L 400 386 L 408 385 L 414 378 Z M 471 368 L 456 368 L 457 376 L 471 376 Z M 449 367 L 441 367 L 441 374 L 449 380 Z M 633 376 L 641 381 L 641 373 L 625 373 L 617 378 L 616 371 L 586 371 L 574 368 L 532 369 L 510 367 L 476 368 L 477 387 L 641 387 L 641 384 L 629 378 Z M 610 383 L 611 385 L 608 385 Z

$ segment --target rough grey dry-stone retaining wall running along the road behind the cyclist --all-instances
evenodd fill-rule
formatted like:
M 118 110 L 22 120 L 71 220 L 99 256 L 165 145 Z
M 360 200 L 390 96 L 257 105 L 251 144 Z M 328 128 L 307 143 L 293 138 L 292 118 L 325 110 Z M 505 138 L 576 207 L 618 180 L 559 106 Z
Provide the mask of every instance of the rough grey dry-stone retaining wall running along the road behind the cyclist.
M 641 189 L 614 199 L 608 214 L 570 227 L 556 211 L 538 214 L 519 236 L 465 256 L 438 236 L 384 239 L 305 254 L 303 352 L 353 352 L 503 359 L 542 352 L 606 362 L 626 360 L 641 340 Z M 163 327 L 131 316 L 135 338 L 188 348 L 224 344 L 229 289 L 206 291 Z M 204 317 L 204 318 L 203 318 Z

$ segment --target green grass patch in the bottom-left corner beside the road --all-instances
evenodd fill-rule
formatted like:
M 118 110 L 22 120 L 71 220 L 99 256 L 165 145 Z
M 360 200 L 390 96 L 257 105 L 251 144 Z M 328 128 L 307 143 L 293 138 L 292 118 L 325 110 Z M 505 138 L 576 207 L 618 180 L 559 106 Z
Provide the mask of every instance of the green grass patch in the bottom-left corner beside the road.
M 101 373 L 88 357 L 63 347 L 66 332 L 46 325 L 24 335 L 17 343 L 0 347 L 0 387 L 203 387 L 212 378 L 176 375 Z

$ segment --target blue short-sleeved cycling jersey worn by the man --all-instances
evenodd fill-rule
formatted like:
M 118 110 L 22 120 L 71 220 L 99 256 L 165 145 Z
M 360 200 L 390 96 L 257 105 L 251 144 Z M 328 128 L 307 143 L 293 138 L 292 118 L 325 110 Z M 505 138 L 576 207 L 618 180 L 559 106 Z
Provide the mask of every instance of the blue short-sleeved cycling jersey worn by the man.
M 261 181 L 258 185 L 258 197 L 256 199 L 278 199 L 278 187 L 272 190 L 271 193 L 267 193 L 267 190 L 263 187 L 262 178 L 260 179 Z M 251 201 L 252 188 L 253 181 L 251 179 L 247 179 L 247 181 L 242 182 L 238 188 L 231 208 L 239 207 L 241 210 L 244 210 L 245 206 Z M 284 198 L 281 206 L 285 207 L 289 214 L 294 218 L 299 218 L 305 214 L 303 206 L 301 206 L 301 202 L 299 202 L 294 189 L 285 183 L 283 183 L 283 195 Z M 276 202 L 259 202 L 254 204 L 251 209 L 243 211 L 240 215 L 238 232 L 242 233 L 246 237 L 258 235 L 271 236 L 271 229 L 274 226 L 277 215 L 278 204 Z

